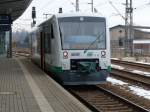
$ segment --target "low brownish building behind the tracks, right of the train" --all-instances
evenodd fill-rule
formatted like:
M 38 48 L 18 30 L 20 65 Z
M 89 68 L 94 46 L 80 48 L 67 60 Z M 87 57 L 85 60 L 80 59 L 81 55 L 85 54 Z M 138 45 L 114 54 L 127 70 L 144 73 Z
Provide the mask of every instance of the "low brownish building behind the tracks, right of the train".
M 133 49 L 133 56 L 147 57 L 150 56 L 150 32 L 133 29 L 134 39 L 130 48 Z M 111 39 L 111 56 L 125 56 L 125 26 L 117 25 L 110 28 Z

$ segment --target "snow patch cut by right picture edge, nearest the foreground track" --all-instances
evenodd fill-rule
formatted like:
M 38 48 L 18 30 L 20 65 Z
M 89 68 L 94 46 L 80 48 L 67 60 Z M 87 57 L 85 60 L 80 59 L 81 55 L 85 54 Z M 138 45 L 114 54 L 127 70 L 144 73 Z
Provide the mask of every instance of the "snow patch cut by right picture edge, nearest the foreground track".
M 140 87 L 136 87 L 136 86 L 129 86 L 130 90 L 132 90 L 132 92 L 136 95 L 142 96 L 146 99 L 150 99 L 150 91 L 148 90 L 144 90 Z

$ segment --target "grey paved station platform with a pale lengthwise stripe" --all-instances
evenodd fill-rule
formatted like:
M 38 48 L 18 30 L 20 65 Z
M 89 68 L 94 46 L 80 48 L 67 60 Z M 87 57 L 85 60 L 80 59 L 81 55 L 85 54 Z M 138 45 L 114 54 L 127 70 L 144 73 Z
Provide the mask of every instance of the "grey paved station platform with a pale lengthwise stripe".
M 27 59 L 0 59 L 0 112 L 90 112 Z

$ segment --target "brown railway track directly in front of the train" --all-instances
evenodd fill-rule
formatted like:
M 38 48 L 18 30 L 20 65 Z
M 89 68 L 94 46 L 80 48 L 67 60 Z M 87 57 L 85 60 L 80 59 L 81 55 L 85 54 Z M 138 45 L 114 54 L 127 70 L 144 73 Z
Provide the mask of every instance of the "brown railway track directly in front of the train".
M 150 110 L 98 86 L 77 86 L 67 88 L 94 112 L 150 112 Z

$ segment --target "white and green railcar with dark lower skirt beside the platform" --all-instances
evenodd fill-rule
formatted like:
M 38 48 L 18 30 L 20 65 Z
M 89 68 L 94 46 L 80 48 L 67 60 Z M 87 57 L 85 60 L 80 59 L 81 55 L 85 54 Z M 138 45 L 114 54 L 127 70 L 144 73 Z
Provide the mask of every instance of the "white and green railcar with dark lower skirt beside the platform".
M 106 82 L 110 38 L 106 19 L 98 15 L 53 15 L 32 32 L 32 60 L 64 85 Z

